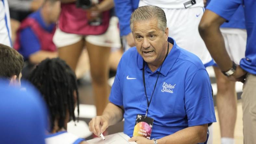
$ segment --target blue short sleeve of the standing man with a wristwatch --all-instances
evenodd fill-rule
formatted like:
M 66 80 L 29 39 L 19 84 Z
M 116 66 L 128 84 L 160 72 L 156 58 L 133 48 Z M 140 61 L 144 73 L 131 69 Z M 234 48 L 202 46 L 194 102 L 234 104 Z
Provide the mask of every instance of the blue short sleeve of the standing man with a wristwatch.
M 237 8 L 242 4 L 242 0 L 211 0 L 206 9 L 211 10 L 226 20 L 230 20 Z

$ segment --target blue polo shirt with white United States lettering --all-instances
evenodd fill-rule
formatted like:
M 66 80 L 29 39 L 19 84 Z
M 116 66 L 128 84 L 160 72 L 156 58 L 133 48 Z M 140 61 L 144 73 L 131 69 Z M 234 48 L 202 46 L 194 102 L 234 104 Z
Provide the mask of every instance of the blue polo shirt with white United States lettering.
M 173 43 L 160 71 L 148 110 L 154 119 L 151 138 L 162 138 L 188 126 L 216 122 L 211 82 L 201 60 Z M 143 58 L 130 48 L 122 56 L 109 101 L 124 107 L 124 133 L 133 136 L 137 114 L 145 115 Z M 152 72 L 145 66 L 147 97 L 150 99 L 160 68 Z M 133 78 L 133 79 L 131 79 Z

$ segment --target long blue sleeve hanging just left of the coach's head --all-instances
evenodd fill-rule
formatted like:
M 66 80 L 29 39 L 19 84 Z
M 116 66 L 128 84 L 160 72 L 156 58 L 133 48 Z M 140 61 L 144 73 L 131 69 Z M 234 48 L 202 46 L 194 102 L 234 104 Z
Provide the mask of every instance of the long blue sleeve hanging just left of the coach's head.
M 114 0 L 116 15 L 119 18 L 120 35 L 125 36 L 131 32 L 130 17 L 139 5 L 139 0 Z

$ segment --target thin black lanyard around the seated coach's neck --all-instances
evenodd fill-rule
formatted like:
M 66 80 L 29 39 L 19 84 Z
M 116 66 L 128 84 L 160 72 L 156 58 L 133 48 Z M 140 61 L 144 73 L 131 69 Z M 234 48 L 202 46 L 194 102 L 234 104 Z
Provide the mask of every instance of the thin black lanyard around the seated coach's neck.
M 165 55 L 164 60 L 166 59 L 166 57 L 167 57 L 167 55 L 168 55 L 168 52 L 169 52 L 169 42 L 167 42 L 167 43 L 168 43 L 168 48 L 167 48 L 167 53 L 166 53 L 166 55 Z M 164 62 L 164 60 L 163 60 L 163 62 Z M 161 69 L 162 69 L 162 66 L 163 66 L 163 63 L 162 63 L 162 65 L 161 65 L 161 67 L 160 67 L 160 70 L 159 70 L 159 72 L 158 72 L 157 80 L 158 80 L 158 78 L 159 78 L 159 75 L 160 75 L 160 71 L 161 71 Z M 146 99 L 147 99 L 147 91 L 146 91 L 146 83 L 145 83 L 145 62 L 144 62 L 144 60 L 143 60 L 142 74 L 143 74 L 144 91 L 145 91 L 145 95 L 146 95 Z M 155 87 L 154 87 L 154 90 L 153 90 L 153 92 L 152 92 L 152 95 L 151 95 L 151 97 L 150 97 L 149 102 L 148 102 L 148 99 L 147 99 L 147 110 L 146 110 L 146 115 L 145 115 L 146 117 L 147 117 L 148 107 L 149 107 L 149 105 L 150 105 L 150 103 L 151 103 L 153 93 L 154 93 L 154 91 L 155 91 L 155 89 L 156 89 L 157 80 L 156 80 Z

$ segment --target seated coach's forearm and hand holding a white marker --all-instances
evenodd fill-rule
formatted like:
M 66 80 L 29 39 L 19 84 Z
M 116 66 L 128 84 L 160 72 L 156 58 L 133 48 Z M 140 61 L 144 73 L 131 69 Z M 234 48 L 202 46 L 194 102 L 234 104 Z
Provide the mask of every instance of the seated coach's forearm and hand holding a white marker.
M 109 126 L 123 119 L 123 111 L 120 107 L 109 102 L 101 116 L 94 117 L 89 123 L 89 129 L 96 136 L 103 133 Z

